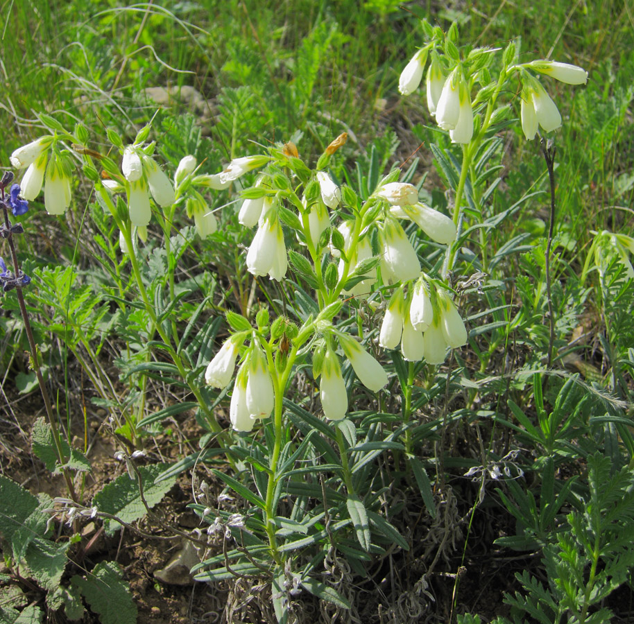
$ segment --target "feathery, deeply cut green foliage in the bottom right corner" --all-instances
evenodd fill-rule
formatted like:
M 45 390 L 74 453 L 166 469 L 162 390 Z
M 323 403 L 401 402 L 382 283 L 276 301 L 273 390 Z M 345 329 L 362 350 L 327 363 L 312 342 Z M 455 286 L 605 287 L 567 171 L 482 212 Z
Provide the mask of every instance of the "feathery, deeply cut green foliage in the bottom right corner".
M 543 551 L 547 584 L 524 571 L 517 574 L 522 593 L 506 596 L 516 624 L 525 615 L 541 624 L 611 621 L 601 603 L 634 566 L 634 471 L 613 471 L 610 458 L 590 456 L 588 492 L 565 521 Z

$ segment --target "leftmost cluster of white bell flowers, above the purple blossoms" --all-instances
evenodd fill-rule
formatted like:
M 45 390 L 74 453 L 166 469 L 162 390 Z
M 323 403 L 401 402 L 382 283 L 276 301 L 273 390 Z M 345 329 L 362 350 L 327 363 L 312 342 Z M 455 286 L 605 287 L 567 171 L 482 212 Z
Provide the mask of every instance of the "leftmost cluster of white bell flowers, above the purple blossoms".
M 43 184 L 46 212 L 65 213 L 71 202 L 71 165 L 67 155 L 55 148 L 55 139 L 51 135 L 17 148 L 10 161 L 17 169 L 26 167 L 20 182 L 25 200 L 34 200 L 40 194 Z

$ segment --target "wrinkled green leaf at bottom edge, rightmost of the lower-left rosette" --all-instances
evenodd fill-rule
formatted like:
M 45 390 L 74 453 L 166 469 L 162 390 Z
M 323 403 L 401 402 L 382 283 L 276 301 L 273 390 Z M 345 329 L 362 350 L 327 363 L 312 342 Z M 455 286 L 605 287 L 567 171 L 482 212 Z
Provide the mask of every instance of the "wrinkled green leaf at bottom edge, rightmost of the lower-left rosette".
M 119 566 L 108 561 L 96 564 L 87 578 L 77 575 L 71 578 L 90 608 L 99 614 L 101 624 L 135 624 L 137 621 L 137 607 L 122 576 Z

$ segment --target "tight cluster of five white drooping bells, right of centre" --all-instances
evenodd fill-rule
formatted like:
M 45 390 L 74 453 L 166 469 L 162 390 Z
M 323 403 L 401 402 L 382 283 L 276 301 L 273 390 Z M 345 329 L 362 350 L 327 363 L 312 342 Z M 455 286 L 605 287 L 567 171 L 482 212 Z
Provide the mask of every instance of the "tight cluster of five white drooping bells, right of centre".
M 442 364 L 447 347 L 467 343 L 465 324 L 444 289 L 420 277 L 405 297 L 404 286 L 397 288 L 388 303 L 379 332 L 379 345 L 396 349 L 407 361 L 425 358 L 428 364 Z

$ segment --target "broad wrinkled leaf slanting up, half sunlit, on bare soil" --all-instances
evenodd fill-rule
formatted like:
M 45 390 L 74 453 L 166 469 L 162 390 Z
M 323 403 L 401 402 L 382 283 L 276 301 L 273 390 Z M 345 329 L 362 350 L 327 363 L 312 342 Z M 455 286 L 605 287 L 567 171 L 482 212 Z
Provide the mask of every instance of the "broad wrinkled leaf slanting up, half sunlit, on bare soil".
M 143 481 L 143 496 L 149 508 L 160 503 L 163 496 L 176 483 L 175 476 L 155 483 L 155 478 L 167 467 L 167 464 L 156 464 L 141 466 L 138 469 Z M 126 523 L 132 523 L 146 514 L 137 479 L 130 479 L 127 472 L 108 483 L 101 492 L 97 492 L 92 504 L 96 505 L 100 512 L 117 516 Z M 104 526 L 109 534 L 120 527 L 117 521 L 110 519 L 104 521 Z

